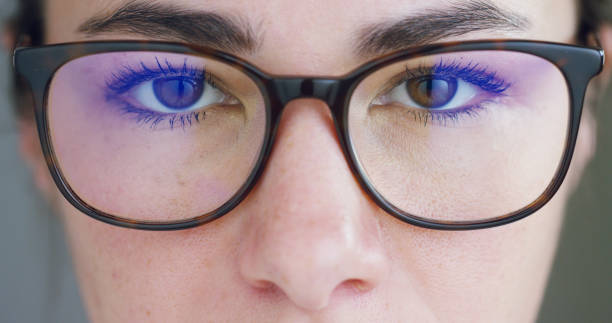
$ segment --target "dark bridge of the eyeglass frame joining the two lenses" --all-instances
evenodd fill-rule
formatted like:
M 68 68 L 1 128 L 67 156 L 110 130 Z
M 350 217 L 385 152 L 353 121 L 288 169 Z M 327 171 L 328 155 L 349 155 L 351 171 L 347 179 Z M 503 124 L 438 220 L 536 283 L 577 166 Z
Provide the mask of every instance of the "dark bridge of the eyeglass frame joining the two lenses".
M 316 98 L 333 109 L 340 89 L 339 79 L 279 78 L 273 81 L 273 92 L 281 107 L 299 98 Z

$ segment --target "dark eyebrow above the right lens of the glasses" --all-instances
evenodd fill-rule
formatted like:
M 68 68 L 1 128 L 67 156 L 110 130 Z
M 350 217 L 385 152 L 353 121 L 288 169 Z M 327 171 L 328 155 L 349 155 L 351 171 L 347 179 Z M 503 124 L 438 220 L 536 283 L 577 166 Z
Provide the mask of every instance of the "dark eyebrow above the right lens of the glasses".
M 489 0 L 452 3 L 399 21 L 364 27 L 358 33 L 357 52 L 361 56 L 379 55 L 474 31 L 524 31 L 529 26 L 527 18 L 503 10 Z

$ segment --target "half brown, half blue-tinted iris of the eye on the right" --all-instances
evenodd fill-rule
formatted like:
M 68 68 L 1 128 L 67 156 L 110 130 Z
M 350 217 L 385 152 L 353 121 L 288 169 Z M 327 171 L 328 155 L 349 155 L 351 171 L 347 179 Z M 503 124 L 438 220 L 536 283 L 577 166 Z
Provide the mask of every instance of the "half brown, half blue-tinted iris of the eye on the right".
M 424 76 L 408 80 L 406 87 L 414 102 L 428 109 L 436 109 L 453 99 L 457 93 L 457 79 Z

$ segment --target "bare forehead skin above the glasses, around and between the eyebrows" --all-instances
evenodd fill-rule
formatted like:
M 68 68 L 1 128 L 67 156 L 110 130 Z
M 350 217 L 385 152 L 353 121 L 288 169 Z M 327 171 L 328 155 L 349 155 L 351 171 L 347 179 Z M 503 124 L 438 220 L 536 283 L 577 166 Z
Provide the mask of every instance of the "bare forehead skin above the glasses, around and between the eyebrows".
M 49 43 L 95 39 L 164 39 L 152 35 L 110 32 L 85 35 L 79 26 L 92 17 L 110 16 L 126 3 L 156 3 L 185 12 L 211 12 L 249 26 L 257 40 L 257 51 L 242 54 L 261 68 L 276 73 L 342 73 L 367 57 L 356 54 L 360 36 L 372 26 L 388 26 L 406 17 L 427 13 L 452 13 L 466 24 L 479 24 L 474 16 L 456 14 L 453 8 L 493 6 L 503 13 L 525 18 L 522 30 L 486 28 L 468 33 L 450 33 L 443 40 L 523 38 L 570 42 L 576 29 L 573 0 L 51 0 L 46 8 L 46 38 Z M 461 13 L 461 12 L 459 12 Z M 477 16 L 477 15 L 475 15 Z M 425 19 L 426 20 L 426 19 Z M 423 20 L 412 20 L 422 23 Z M 415 24 L 408 24 L 410 27 Z M 418 37 L 419 28 L 411 33 Z M 284 64 L 279 64 L 283 62 Z

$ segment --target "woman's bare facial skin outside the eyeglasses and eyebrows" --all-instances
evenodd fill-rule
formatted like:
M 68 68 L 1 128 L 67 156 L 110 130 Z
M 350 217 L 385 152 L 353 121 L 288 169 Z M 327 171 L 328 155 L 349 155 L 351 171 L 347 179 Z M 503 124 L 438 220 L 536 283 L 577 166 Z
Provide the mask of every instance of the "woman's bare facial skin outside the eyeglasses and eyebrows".
M 269 73 L 292 75 L 341 75 L 373 58 L 354 50 L 366 26 L 453 5 L 489 4 L 156 2 L 240 19 L 258 41 L 240 56 Z M 48 1 L 47 42 L 150 39 L 78 31 L 123 3 Z M 482 30 L 440 40 L 574 39 L 572 0 L 491 3 L 523 16 L 526 27 L 481 24 Z M 528 322 L 546 285 L 567 183 L 588 160 L 591 132 L 587 122 L 569 179 L 550 203 L 524 220 L 486 230 L 423 229 L 378 208 L 349 170 L 328 108 L 313 99 L 288 104 L 262 178 L 237 208 L 209 224 L 172 232 L 124 229 L 80 214 L 52 194 L 62 201 L 82 295 L 95 322 Z M 159 189 L 146 185 L 139 192 Z M 195 192 L 187 195 L 198 199 Z

